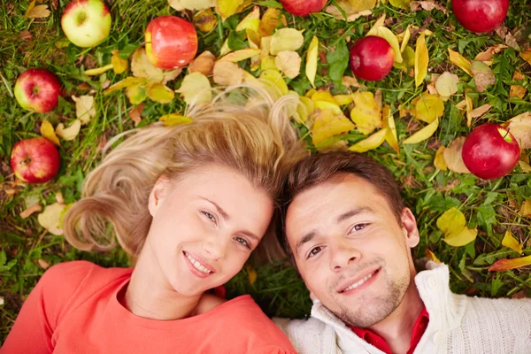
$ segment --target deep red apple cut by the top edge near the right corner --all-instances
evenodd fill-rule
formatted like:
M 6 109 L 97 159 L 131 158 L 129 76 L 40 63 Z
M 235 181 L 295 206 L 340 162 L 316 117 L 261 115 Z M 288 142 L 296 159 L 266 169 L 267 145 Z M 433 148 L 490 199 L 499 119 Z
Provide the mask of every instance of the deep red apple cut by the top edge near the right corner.
M 489 32 L 504 22 L 509 0 L 452 0 L 459 23 L 472 32 Z

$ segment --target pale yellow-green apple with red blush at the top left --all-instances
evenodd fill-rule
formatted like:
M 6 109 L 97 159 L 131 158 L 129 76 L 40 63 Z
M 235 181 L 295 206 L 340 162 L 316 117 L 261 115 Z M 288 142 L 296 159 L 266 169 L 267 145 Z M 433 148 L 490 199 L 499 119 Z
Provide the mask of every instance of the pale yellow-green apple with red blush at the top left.
M 66 37 L 81 48 L 104 42 L 111 32 L 111 23 L 111 12 L 101 0 L 73 0 L 61 17 Z

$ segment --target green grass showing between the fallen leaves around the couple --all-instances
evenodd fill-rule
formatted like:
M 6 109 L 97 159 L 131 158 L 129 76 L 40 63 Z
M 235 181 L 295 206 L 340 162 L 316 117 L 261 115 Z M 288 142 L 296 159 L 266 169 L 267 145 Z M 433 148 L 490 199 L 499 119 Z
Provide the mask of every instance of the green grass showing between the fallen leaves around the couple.
M 103 95 L 102 84 L 105 81 L 117 82 L 122 75 L 107 72 L 96 78 L 83 74 L 85 69 L 102 66 L 110 61 L 111 50 L 121 50 L 122 54 L 131 53 L 142 45 L 143 31 L 150 19 L 160 15 L 176 14 L 165 0 L 138 2 L 122 0 L 112 2 L 112 33 L 107 41 L 91 50 L 81 50 L 65 43 L 65 36 L 60 29 L 61 9 L 66 1 L 45 1 L 51 8 L 47 19 L 23 19 L 27 2 L 0 0 L 0 156 L 2 157 L 0 175 L 0 296 L 4 304 L 0 305 L 0 340 L 4 340 L 17 317 L 25 297 L 35 286 L 43 273 L 45 264 L 57 264 L 73 259 L 88 259 L 102 266 L 127 266 L 127 257 L 121 250 L 107 253 L 87 253 L 73 250 L 62 236 L 50 235 L 37 222 L 36 214 L 28 219 L 21 219 L 19 213 L 28 205 L 40 202 L 42 205 L 55 202 L 55 194 L 61 191 L 65 203 L 73 203 L 81 196 L 81 184 L 89 171 L 99 161 L 98 146 L 113 135 L 134 127 L 128 112 L 133 106 L 122 93 Z M 257 2 L 257 4 L 264 4 Z M 275 1 L 266 4 L 278 5 Z M 450 10 L 450 4 L 447 5 Z M 531 1 L 511 2 L 511 8 L 505 25 L 510 29 L 522 29 L 521 34 L 531 32 L 528 9 Z M 225 26 L 218 26 L 209 34 L 198 33 L 199 53 L 211 50 L 215 55 L 227 36 L 234 32 L 242 16 L 237 14 L 227 19 Z M 461 83 L 458 95 L 445 104 L 445 114 L 440 128 L 427 142 L 414 145 L 401 145 L 401 154 L 384 144 L 381 148 L 368 152 L 373 158 L 387 165 L 401 182 L 406 204 L 412 208 L 418 219 L 421 242 L 413 250 L 415 258 L 421 258 L 425 250 L 432 250 L 435 255 L 450 266 L 450 287 L 453 291 L 476 296 L 531 296 L 531 276 L 528 269 L 520 268 L 501 273 L 489 273 L 488 267 L 497 259 L 514 257 L 515 252 L 503 248 L 501 240 L 506 230 L 524 245 L 524 254 L 531 255 L 531 227 L 529 219 L 519 215 L 519 205 L 531 198 L 531 179 L 529 174 L 518 168 L 503 179 L 481 181 L 470 174 L 450 173 L 435 169 L 433 160 L 440 144 L 448 144 L 458 136 L 466 135 L 466 119 L 455 108 L 463 99 L 464 89 L 473 89 L 473 81 L 451 65 L 447 49 L 458 50 L 466 58 L 474 58 L 480 51 L 490 45 L 502 42 L 494 34 L 474 35 L 458 23 L 451 12 L 449 15 L 434 10 L 432 12 L 409 12 L 398 10 L 389 4 L 381 4 L 373 11 L 373 16 L 360 18 L 347 23 L 332 18 L 325 12 L 309 18 L 295 18 L 285 12 L 289 27 L 304 29 L 304 46 L 299 50 L 304 55 L 312 35 L 319 37 L 323 45 L 316 86 L 329 89 L 333 94 L 340 93 L 344 87 L 341 81 L 344 65 L 346 39 L 357 39 L 364 35 L 381 14 L 386 13 L 388 27 L 399 33 L 407 25 L 427 28 L 434 35 L 427 37 L 430 54 L 431 73 L 443 73 L 449 70 L 458 73 Z M 191 18 L 192 12 L 183 12 L 183 17 Z M 451 27 L 455 27 L 452 29 Z M 29 31 L 32 39 L 21 39 L 22 31 Z M 231 37 L 235 39 L 237 35 Z M 237 38 L 236 38 L 237 39 Z M 528 42 L 528 41 L 527 41 Z M 410 44 L 414 45 L 414 41 Z M 327 63 L 323 61 L 327 58 Z M 248 64 L 243 67 L 249 69 Z M 58 108 L 46 114 L 23 111 L 12 96 L 16 78 L 29 67 L 47 67 L 56 73 L 65 86 L 65 95 L 60 99 Z M 523 100 L 509 100 L 509 86 L 515 70 L 524 73 L 522 84 L 531 89 L 529 76 L 531 67 L 527 65 L 515 50 L 507 49 L 496 55 L 492 65 L 496 73 L 496 85 L 484 93 L 471 91 L 474 107 L 489 103 L 493 109 L 473 125 L 487 120 L 504 122 L 507 119 L 530 109 L 529 93 Z M 326 72 L 326 73 L 325 73 Z M 304 73 L 304 68 L 301 71 Z M 345 74 L 350 74 L 347 68 Z M 120 76 L 120 77 L 117 77 Z M 125 75 L 123 75 L 125 76 Z M 183 75 L 170 83 L 177 89 Z M 81 85 L 84 84 L 84 85 Z M 289 81 L 292 89 L 299 94 L 311 89 L 304 74 Z M 407 104 L 423 92 L 415 89 L 414 82 L 408 75 L 394 70 L 384 81 L 367 83 L 372 91 L 380 88 L 384 103 L 391 104 L 393 110 L 398 103 Z M 89 88 L 89 89 L 87 89 Z M 20 139 L 40 135 L 39 127 L 43 119 L 54 125 L 58 122 L 66 125 L 75 117 L 75 105 L 70 95 L 80 96 L 92 92 L 96 97 L 95 119 L 81 130 L 73 142 L 63 142 L 60 150 L 62 165 L 58 177 L 44 185 L 19 185 L 12 195 L 10 189 L 14 177 L 9 166 L 12 146 Z M 157 104 L 146 101 L 139 127 L 146 126 L 165 113 L 182 112 L 183 103 L 175 99 L 171 104 Z M 396 126 L 399 140 L 410 135 L 415 122 L 412 119 L 397 119 Z M 306 130 L 301 127 L 304 135 Z M 349 138 L 359 140 L 358 135 Z M 528 151 L 527 151 L 528 153 Z M 435 220 L 451 206 L 458 207 L 465 213 L 469 227 L 478 227 L 479 235 L 475 242 L 466 247 L 454 248 L 442 240 L 442 233 L 437 229 Z M 250 284 L 249 269 L 242 270 L 227 285 L 227 295 L 236 296 L 250 293 L 269 315 L 303 317 L 309 313 L 311 302 L 304 283 L 295 271 L 284 263 L 258 266 L 257 281 Z

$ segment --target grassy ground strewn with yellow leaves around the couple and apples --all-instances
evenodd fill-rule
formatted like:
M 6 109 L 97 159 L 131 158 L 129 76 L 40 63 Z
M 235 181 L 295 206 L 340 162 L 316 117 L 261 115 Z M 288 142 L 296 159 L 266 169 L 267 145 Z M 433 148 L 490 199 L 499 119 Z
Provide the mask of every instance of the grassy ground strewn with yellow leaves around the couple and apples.
M 358 150 L 389 167 L 418 219 L 414 256 L 448 264 L 453 291 L 531 296 L 530 1 L 512 1 L 503 27 L 476 35 L 458 24 L 450 2 L 332 0 L 323 12 L 300 18 L 274 0 L 193 2 L 204 11 L 184 0 L 122 0 L 109 4 L 110 37 L 88 50 L 62 33 L 66 1 L 40 3 L 0 5 L 2 340 L 50 265 L 73 259 L 128 265 L 120 250 L 73 250 L 57 220 L 50 225 L 38 217 L 50 205 L 60 212 L 80 198 L 102 146 L 161 118 L 186 123 L 186 104 L 197 93 L 210 99 L 201 89 L 258 77 L 284 95 L 304 97 L 294 126 L 309 149 Z M 169 14 L 197 29 L 198 58 L 183 70 L 157 69 L 143 50 L 147 24 Z M 383 81 L 356 80 L 350 72 L 350 46 L 368 33 L 394 50 L 395 68 Z M 14 82 L 31 67 L 50 69 L 64 85 L 53 112 L 24 111 L 13 97 Z M 483 181 L 467 173 L 460 149 L 471 129 L 488 121 L 509 127 L 522 154 L 510 175 Z M 60 145 L 58 176 L 43 185 L 16 181 L 12 147 L 39 135 Z M 284 263 L 246 266 L 227 284 L 228 296 L 242 293 L 269 315 L 302 317 L 311 306 L 304 283 Z

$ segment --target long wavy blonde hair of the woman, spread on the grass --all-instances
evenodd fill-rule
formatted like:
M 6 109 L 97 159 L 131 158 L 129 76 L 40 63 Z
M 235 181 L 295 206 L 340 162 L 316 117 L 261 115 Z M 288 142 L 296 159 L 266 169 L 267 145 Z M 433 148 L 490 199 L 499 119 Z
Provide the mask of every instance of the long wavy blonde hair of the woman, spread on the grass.
M 289 121 L 298 96 L 275 96 L 265 84 L 227 88 L 210 104 L 190 104 L 190 124 L 154 123 L 114 137 L 104 153 L 127 135 L 84 181 L 81 200 L 65 214 L 66 240 L 79 250 L 110 250 L 118 240 L 135 261 L 150 229 L 148 199 L 158 179 L 178 179 L 210 163 L 234 168 L 276 202 L 286 168 L 305 153 Z M 272 234 L 270 227 L 260 258 L 282 255 Z

